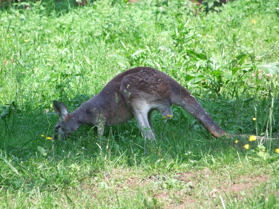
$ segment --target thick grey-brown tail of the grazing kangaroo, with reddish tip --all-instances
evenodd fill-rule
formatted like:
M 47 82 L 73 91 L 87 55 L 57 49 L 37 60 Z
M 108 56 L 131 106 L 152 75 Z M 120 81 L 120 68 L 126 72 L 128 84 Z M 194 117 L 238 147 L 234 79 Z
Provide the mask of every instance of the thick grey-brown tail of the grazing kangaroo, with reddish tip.
M 201 107 L 192 94 L 178 83 L 172 85 L 170 102 L 187 110 L 191 115 L 197 118 L 213 136 L 221 137 L 227 135 L 227 133 L 206 113 L 205 109 Z

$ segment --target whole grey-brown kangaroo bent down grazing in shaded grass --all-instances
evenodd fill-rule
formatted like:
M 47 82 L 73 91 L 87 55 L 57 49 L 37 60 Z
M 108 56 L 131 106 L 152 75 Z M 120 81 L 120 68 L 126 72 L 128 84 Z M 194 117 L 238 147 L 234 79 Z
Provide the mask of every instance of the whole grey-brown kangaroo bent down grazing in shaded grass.
M 155 139 L 152 112 L 161 112 L 163 118 L 171 118 L 172 104 L 183 107 L 215 137 L 226 135 L 191 93 L 164 72 L 151 67 L 135 67 L 114 77 L 95 96 L 68 113 L 63 102 L 53 101 L 59 121 L 54 128 L 53 139 L 67 137 L 81 124 L 97 126 L 103 134 L 104 126 L 112 126 L 137 119 L 142 134 Z

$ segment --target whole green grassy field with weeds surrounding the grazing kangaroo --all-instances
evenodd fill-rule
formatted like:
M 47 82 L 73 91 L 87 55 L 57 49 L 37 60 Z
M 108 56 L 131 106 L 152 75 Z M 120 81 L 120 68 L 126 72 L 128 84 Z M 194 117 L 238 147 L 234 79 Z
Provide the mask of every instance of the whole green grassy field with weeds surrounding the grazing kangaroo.
M 277 3 L 197 16 L 178 0 L 2 7 L 0 207 L 278 208 Z M 136 120 L 102 138 L 82 126 L 67 141 L 46 139 L 53 100 L 73 111 L 137 66 L 175 78 L 228 133 L 269 140 L 215 139 L 179 107 L 166 124 L 153 114 L 157 142 L 144 142 Z

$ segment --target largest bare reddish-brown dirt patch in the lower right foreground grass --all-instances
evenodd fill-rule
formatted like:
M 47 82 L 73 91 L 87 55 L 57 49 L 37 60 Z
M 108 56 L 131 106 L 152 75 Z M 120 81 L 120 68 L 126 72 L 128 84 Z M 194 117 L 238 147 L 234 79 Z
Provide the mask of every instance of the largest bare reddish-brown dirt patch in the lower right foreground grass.
M 194 194 L 197 193 L 195 189 L 198 189 L 196 187 L 198 187 L 199 181 L 208 181 L 211 175 L 212 173 L 209 169 L 198 172 L 178 173 L 176 174 L 175 178 L 179 181 L 183 181 L 185 184 L 190 182 L 191 185 L 189 185 L 189 187 L 193 190 L 191 190 L 191 192 L 185 192 L 182 190 L 175 192 L 174 196 L 177 197 L 177 201 L 175 201 L 175 198 L 171 194 L 167 194 L 164 191 L 162 191 L 160 194 L 155 194 L 154 197 L 166 202 L 166 205 L 163 208 L 196 208 L 199 204 L 202 205 L 202 202 L 200 202 L 199 199 L 195 197 Z M 201 179 L 201 176 L 204 178 Z M 205 201 L 208 202 L 210 200 L 207 198 L 215 199 L 222 196 L 225 200 L 227 199 L 226 196 L 233 197 L 235 194 L 237 194 L 237 196 L 242 196 L 241 193 L 244 191 L 246 195 L 251 194 L 254 188 L 260 186 L 268 180 L 269 176 L 266 174 L 261 174 L 260 176 L 239 176 L 230 181 L 223 181 L 220 187 L 212 189 L 210 194 L 207 194 L 208 196 L 206 195 L 202 198 L 205 198 Z M 224 193 L 226 195 L 224 195 Z M 209 202 L 208 204 L 210 205 Z

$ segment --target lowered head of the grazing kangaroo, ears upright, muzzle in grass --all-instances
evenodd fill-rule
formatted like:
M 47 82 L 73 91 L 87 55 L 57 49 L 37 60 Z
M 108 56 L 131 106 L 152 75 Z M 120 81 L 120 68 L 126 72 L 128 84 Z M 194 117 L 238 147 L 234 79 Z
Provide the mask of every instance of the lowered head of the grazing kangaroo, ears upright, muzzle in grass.
M 68 137 L 73 131 L 77 129 L 76 121 L 71 118 L 68 109 L 63 102 L 57 103 L 53 101 L 53 109 L 59 116 L 59 120 L 54 127 L 54 134 L 52 139 Z

